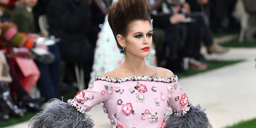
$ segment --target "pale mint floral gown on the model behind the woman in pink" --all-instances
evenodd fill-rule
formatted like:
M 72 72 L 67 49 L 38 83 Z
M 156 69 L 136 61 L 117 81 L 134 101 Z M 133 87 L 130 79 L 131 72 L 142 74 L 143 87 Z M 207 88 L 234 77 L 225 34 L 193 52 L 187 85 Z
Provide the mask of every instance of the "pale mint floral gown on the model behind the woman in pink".
M 121 54 L 117 48 L 116 40 L 108 24 L 107 16 L 105 18 L 104 27 L 101 29 L 98 36 L 90 82 L 92 82 L 95 77 L 109 72 L 124 63 L 124 55 Z M 156 66 L 155 54 L 156 50 L 152 44 L 149 56 L 145 58 L 145 62 L 151 66 Z

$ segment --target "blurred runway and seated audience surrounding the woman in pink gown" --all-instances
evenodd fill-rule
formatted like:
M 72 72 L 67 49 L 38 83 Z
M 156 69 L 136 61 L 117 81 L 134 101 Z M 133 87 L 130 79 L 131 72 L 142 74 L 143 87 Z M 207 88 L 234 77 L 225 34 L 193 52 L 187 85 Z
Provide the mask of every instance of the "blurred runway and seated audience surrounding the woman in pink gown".
M 0 0 L 0 127 L 26 128 L 124 62 L 107 21 L 116 0 Z M 256 127 L 256 0 L 149 0 L 146 63 L 170 69 L 214 128 Z M 110 127 L 102 104 L 95 128 Z

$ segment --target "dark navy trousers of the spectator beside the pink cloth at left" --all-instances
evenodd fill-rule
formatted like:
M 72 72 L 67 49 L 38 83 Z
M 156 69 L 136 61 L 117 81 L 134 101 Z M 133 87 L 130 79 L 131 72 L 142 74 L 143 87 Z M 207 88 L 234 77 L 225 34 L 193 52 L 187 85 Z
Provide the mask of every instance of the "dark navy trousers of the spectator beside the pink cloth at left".
M 49 46 L 49 51 L 55 55 L 55 61 L 51 64 L 42 64 L 36 62 L 40 71 L 40 78 L 37 81 L 37 87 L 41 96 L 47 102 L 57 98 L 60 90 L 60 52 L 57 44 Z

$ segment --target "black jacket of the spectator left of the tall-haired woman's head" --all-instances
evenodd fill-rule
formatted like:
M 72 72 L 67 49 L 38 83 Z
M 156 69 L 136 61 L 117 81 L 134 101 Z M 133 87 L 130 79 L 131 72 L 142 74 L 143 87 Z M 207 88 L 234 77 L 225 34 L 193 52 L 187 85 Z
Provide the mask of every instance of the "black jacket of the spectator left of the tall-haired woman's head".
M 64 39 L 81 39 L 91 24 L 90 6 L 84 0 L 52 0 L 47 9 L 50 35 Z

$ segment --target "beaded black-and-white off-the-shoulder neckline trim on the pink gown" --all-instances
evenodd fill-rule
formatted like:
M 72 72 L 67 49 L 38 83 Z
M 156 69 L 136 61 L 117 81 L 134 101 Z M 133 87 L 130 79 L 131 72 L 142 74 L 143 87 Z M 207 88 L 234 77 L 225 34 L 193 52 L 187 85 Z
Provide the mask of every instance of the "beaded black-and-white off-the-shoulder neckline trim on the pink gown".
M 172 83 L 178 81 L 178 76 L 174 76 L 171 78 L 160 78 L 160 77 L 152 77 L 152 76 L 127 76 L 127 77 L 119 77 L 119 78 L 112 78 L 108 76 L 98 76 L 95 78 L 95 81 L 102 80 L 114 83 L 121 83 L 125 81 L 156 81 L 156 82 L 163 82 L 163 83 Z

